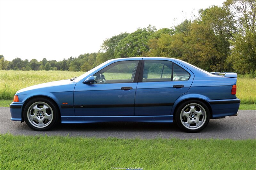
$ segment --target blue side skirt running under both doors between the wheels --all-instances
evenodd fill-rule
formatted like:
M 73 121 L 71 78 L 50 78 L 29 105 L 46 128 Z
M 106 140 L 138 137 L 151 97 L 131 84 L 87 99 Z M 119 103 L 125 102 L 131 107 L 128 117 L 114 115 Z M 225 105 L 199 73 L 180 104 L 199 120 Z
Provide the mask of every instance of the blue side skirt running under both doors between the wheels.
M 172 123 L 173 116 L 62 116 L 63 124 L 84 124 L 98 122 L 150 122 Z

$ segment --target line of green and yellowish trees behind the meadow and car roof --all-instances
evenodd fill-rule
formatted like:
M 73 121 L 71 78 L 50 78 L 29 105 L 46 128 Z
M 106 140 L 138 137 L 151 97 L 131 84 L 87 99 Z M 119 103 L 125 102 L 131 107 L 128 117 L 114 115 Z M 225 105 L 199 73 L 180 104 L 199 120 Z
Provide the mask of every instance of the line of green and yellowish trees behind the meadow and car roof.
M 250 73 L 256 70 L 255 7 L 255 0 L 226 0 L 222 7 L 201 9 L 198 18 L 174 28 L 149 25 L 115 35 L 97 53 L 62 61 L 7 61 L 0 55 L 0 69 L 88 71 L 109 59 L 149 56 L 178 58 L 207 71 Z

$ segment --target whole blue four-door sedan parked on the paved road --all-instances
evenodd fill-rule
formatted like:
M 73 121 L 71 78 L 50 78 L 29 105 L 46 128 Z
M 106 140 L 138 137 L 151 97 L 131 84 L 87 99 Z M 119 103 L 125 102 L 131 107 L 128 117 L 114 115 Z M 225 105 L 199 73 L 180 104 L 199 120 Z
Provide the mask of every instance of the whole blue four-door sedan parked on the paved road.
M 172 58 L 113 59 L 79 77 L 17 91 L 11 120 L 25 121 L 36 131 L 58 121 L 175 121 L 185 131 L 198 132 L 211 118 L 237 115 L 236 78 L 236 73 L 209 73 Z

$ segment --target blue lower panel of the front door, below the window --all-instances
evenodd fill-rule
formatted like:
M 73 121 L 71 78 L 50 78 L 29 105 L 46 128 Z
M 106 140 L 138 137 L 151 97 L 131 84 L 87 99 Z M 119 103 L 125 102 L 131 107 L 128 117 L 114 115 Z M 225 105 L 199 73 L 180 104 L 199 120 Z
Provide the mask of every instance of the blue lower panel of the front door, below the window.
M 134 104 L 137 83 L 84 84 L 77 83 L 74 105 Z M 132 87 L 122 90 L 122 87 Z M 134 107 L 75 108 L 76 116 L 133 116 Z

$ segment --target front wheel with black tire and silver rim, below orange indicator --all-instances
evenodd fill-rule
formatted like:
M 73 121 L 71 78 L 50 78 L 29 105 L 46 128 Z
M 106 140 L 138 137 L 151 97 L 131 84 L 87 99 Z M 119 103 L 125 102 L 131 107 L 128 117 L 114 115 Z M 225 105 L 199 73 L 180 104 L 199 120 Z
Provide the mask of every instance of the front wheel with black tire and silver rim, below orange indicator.
M 25 105 L 23 118 L 31 129 L 48 131 L 58 122 L 60 113 L 57 107 L 49 99 L 34 98 Z

